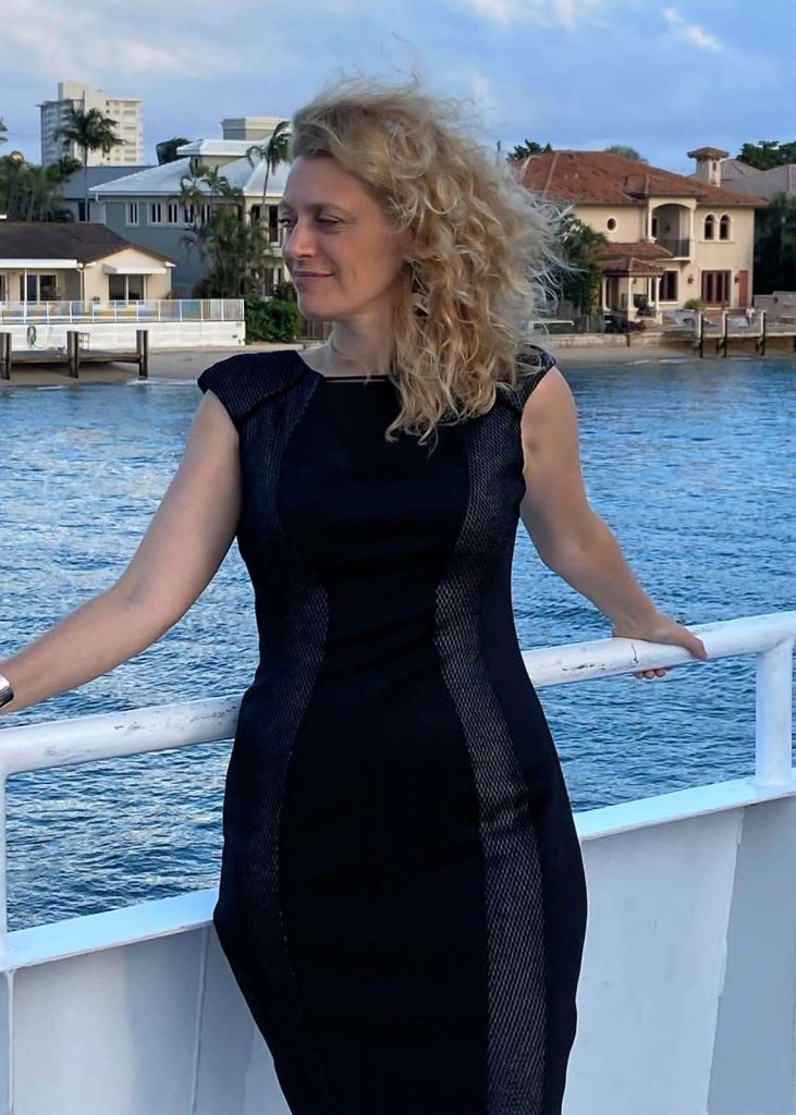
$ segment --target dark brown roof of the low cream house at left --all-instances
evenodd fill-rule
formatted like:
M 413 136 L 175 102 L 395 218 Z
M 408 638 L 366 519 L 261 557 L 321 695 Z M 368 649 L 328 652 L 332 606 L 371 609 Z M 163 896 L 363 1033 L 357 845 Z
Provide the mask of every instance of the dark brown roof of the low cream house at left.
M 129 240 L 95 222 L 0 221 L 0 264 L 7 260 L 77 260 L 90 263 L 135 248 L 146 255 L 174 263 L 168 255 Z

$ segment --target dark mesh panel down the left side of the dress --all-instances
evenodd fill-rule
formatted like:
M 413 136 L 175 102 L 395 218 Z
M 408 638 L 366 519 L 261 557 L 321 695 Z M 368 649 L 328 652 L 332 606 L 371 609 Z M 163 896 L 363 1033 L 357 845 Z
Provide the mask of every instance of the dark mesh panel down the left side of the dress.
M 280 539 L 273 553 L 279 554 L 283 614 L 289 628 L 270 656 L 273 670 L 269 682 L 273 687 L 273 707 L 278 712 L 268 726 L 269 746 L 258 752 L 256 769 L 243 775 L 244 778 L 254 776 L 260 787 L 254 797 L 256 816 L 239 818 L 246 830 L 247 862 L 232 867 L 235 874 L 246 873 L 245 888 L 251 904 L 244 906 L 244 913 L 250 911 L 250 920 L 242 932 L 232 928 L 225 947 L 252 1015 L 266 1037 L 288 1102 L 300 1103 L 302 1111 L 328 1115 L 340 1112 L 339 1101 L 302 1016 L 297 976 L 288 952 L 279 885 L 279 836 L 287 770 L 293 740 L 322 662 L 328 626 L 326 591 L 284 537 L 275 504 L 284 447 L 312 389 L 311 384 L 302 385 L 287 392 L 281 405 L 270 400 L 259 407 L 242 433 L 242 452 L 253 454 L 256 467 L 268 477 L 265 515 Z M 241 796 L 247 796 L 243 787 Z M 237 948 L 244 951 L 240 963 L 235 954 Z M 259 971 L 263 972 L 261 979 L 255 975 Z

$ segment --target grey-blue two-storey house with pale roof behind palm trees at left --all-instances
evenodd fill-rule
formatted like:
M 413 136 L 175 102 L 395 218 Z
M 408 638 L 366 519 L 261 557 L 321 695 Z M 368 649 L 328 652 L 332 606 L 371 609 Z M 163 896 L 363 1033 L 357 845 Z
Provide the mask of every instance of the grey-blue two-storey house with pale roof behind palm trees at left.
M 198 139 L 185 144 L 177 148 L 179 157 L 173 163 L 105 182 L 90 191 L 100 203 L 100 220 L 109 229 L 142 248 L 162 252 L 175 261 L 175 298 L 191 298 L 204 275 L 202 261 L 195 248 L 190 246 L 191 226 L 197 214 L 191 204 L 179 200 L 183 181 L 191 180 L 201 167 L 217 168 L 231 186 L 243 192 L 241 216 L 247 221 L 266 222 L 274 254 L 281 254 L 276 206 L 284 188 L 288 166 L 282 165 L 270 172 L 263 211 L 265 163 L 256 155 L 247 157 L 252 146 L 261 143 L 279 120 L 279 117 L 222 120 L 224 135 L 221 139 Z M 210 198 L 208 186 L 197 184 L 197 187 Z M 276 264 L 268 275 L 268 283 L 278 283 L 284 278 L 284 269 Z

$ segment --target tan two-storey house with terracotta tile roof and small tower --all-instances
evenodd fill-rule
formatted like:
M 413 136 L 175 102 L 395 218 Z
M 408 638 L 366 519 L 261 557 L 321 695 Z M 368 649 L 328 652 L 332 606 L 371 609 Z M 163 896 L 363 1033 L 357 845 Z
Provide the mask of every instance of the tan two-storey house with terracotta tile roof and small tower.
M 721 154 L 690 151 L 697 171 L 686 176 L 609 152 L 545 152 L 525 159 L 521 181 L 608 236 L 604 310 L 632 320 L 645 299 L 660 319 L 692 298 L 751 306 L 755 210 L 767 202 L 719 185 Z

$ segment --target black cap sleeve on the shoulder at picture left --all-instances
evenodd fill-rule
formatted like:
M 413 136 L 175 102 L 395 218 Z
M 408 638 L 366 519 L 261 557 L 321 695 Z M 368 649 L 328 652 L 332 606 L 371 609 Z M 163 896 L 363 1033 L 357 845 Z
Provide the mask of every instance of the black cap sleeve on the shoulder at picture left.
M 291 349 L 242 352 L 205 368 L 196 385 L 203 394 L 213 391 L 240 432 L 255 407 L 285 390 L 300 376 L 301 362 Z

